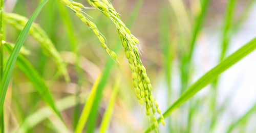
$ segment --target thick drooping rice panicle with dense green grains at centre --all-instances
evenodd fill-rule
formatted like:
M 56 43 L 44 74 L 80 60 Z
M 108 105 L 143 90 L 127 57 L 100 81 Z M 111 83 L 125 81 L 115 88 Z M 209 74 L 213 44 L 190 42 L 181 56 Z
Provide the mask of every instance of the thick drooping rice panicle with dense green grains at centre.
M 139 57 L 139 50 L 136 46 L 136 44 L 139 44 L 139 40 L 131 34 L 130 30 L 122 22 L 110 1 L 87 1 L 93 7 L 99 9 L 106 17 L 109 17 L 116 25 L 120 40 L 125 51 L 125 56 L 129 60 L 129 66 L 133 72 L 133 85 L 135 87 L 140 104 L 145 102 L 146 115 L 153 116 L 155 126 L 158 125 L 154 115 L 156 111 L 161 116 L 162 124 L 165 125 L 163 115 L 161 114 L 161 111 L 158 107 L 158 103 L 152 95 L 153 93 L 150 78 L 148 78 L 146 69 Z

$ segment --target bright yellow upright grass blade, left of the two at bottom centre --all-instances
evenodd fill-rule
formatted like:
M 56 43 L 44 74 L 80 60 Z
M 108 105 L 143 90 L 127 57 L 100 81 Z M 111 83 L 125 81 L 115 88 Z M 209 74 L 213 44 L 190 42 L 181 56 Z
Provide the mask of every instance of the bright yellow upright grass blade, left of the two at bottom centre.
M 95 95 L 96 95 L 97 88 L 98 88 L 98 85 L 100 82 L 100 78 L 101 78 L 101 74 L 98 75 L 98 77 L 93 85 L 93 88 L 91 90 L 91 93 L 87 99 L 87 102 L 84 104 L 84 108 L 82 110 L 81 116 L 79 118 L 79 121 L 77 122 L 75 133 L 82 132 L 84 125 L 86 125 L 90 111 L 92 110 L 93 101 L 95 99 Z

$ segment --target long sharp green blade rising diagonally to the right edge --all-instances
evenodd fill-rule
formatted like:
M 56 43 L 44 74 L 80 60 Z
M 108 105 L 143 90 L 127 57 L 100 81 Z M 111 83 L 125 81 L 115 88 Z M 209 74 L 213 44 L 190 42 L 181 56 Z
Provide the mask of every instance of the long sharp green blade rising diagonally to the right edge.
M 172 113 L 175 109 L 179 108 L 180 105 L 187 101 L 189 98 L 194 96 L 198 91 L 203 89 L 206 85 L 209 83 L 215 81 L 215 79 L 225 70 L 227 70 L 232 65 L 236 64 L 238 61 L 243 59 L 245 56 L 250 54 L 254 49 L 256 49 L 256 38 L 242 46 L 240 49 L 238 49 L 236 52 L 234 52 L 232 55 L 227 57 L 223 62 L 221 62 L 216 67 L 209 70 L 206 74 L 204 74 L 201 78 L 198 79 L 196 83 L 191 85 L 187 91 L 185 91 L 178 100 L 176 100 L 172 106 L 170 106 L 167 111 L 163 114 L 164 118 L 169 116 L 170 113 Z M 158 122 L 160 122 L 160 119 L 158 119 Z M 155 126 L 152 125 L 150 128 L 148 128 L 145 132 L 150 132 L 152 129 L 154 129 Z

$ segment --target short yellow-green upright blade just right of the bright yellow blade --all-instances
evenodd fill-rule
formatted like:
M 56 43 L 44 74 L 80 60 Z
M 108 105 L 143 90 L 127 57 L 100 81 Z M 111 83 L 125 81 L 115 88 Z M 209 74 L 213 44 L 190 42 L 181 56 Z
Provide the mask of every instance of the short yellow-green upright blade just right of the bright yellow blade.
M 119 89 L 119 84 L 120 84 L 120 78 L 117 78 L 117 81 L 114 86 L 114 90 L 113 90 L 111 98 L 110 98 L 109 106 L 108 106 L 108 108 L 106 108 L 106 111 L 104 113 L 104 116 L 102 118 L 102 121 L 101 121 L 101 124 L 99 127 L 99 133 L 104 133 L 109 128 L 112 113 L 113 113 L 114 103 L 116 100 L 116 95 L 117 95 L 118 89 Z

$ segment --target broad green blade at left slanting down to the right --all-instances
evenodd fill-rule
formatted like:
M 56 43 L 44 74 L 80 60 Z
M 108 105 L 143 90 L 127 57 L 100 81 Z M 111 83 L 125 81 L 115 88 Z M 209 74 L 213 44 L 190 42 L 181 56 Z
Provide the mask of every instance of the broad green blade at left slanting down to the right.
M 13 50 L 13 47 L 9 43 L 4 43 L 4 48 L 9 53 L 11 53 L 11 51 Z M 44 100 L 53 109 L 57 116 L 61 118 L 60 112 L 56 108 L 56 104 L 51 95 L 51 92 L 49 91 L 49 88 L 46 86 L 46 83 L 44 82 L 44 79 L 42 79 L 40 74 L 35 70 L 35 68 L 29 63 L 29 61 L 23 55 L 18 55 L 16 64 L 18 68 L 22 70 L 24 74 L 29 78 L 35 90 L 41 96 L 42 100 Z

